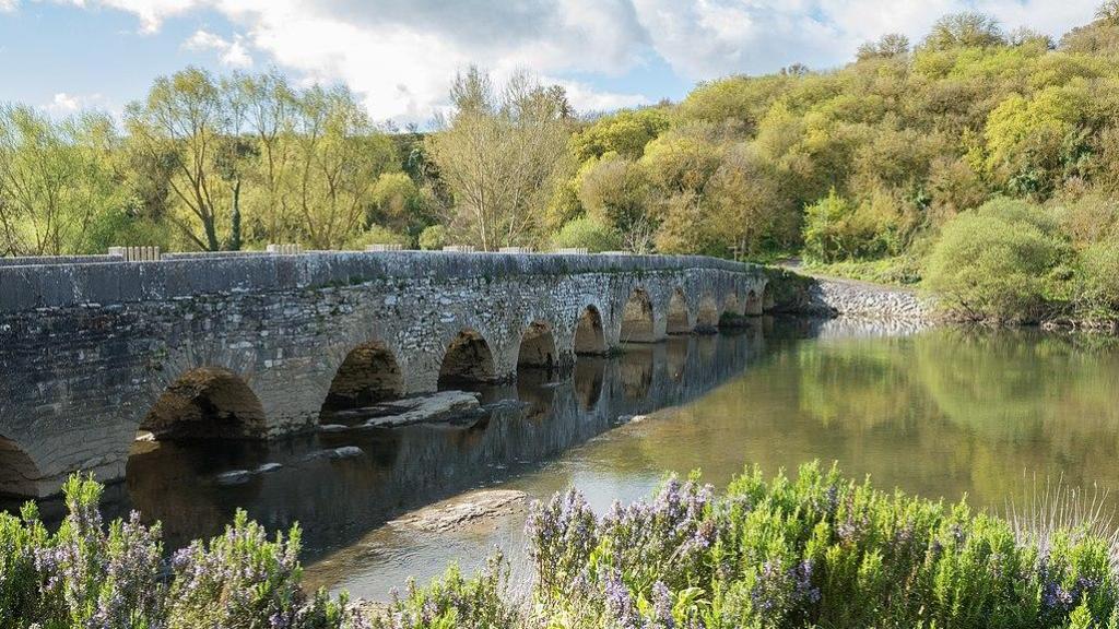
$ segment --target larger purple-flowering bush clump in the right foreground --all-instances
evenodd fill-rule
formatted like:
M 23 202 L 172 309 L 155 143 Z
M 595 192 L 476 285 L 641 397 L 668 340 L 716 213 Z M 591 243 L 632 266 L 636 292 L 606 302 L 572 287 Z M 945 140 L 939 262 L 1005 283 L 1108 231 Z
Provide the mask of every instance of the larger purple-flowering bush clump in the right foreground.
M 815 464 L 796 480 L 747 472 L 722 497 L 669 479 L 601 518 L 568 491 L 529 516 L 536 583 L 519 613 L 496 569 L 452 571 L 379 626 L 1119 626 L 1113 548 L 1087 528 L 1032 531 Z

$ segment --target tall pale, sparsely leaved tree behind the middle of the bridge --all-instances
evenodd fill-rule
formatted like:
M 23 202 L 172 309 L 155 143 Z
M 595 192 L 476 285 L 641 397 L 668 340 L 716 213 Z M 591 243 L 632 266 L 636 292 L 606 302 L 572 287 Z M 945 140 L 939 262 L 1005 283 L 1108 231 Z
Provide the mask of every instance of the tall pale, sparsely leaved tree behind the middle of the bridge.
M 452 234 L 485 251 L 536 240 L 548 195 L 567 162 L 571 111 L 561 87 L 524 73 L 500 90 L 471 67 L 451 88 L 429 153 L 450 193 Z

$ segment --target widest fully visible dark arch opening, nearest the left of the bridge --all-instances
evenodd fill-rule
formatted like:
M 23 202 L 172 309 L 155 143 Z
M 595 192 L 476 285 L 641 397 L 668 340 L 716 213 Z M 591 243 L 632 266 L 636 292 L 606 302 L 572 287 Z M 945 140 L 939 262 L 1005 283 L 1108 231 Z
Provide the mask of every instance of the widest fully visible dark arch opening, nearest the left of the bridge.
M 198 367 L 168 386 L 140 423 L 157 440 L 260 439 L 264 407 L 237 374 Z

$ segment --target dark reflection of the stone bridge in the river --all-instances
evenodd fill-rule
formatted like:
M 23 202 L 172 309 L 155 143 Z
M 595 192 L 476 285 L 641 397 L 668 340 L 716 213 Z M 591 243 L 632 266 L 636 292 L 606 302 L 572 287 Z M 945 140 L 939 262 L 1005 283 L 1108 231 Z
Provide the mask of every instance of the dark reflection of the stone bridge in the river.
M 163 522 L 168 547 L 220 532 L 241 507 L 269 527 L 303 527 L 307 558 L 387 519 L 470 488 L 530 470 L 617 425 L 619 417 L 685 404 L 740 374 L 764 347 L 760 326 L 714 336 L 630 345 L 614 357 L 581 357 L 565 376 L 521 369 L 517 384 L 488 387 L 490 412 L 470 424 L 419 424 L 320 433 L 279 442 L 151 443 L 135 452 L 107 509 L 135 508 Z M 509 400 L 518 400 L 511 404 Z M 357 447 L 351 458 L 319 456 Z M 239 485 L 218 475 L 276 462 Z M 51 500 L 48 510 L 57 501 Z

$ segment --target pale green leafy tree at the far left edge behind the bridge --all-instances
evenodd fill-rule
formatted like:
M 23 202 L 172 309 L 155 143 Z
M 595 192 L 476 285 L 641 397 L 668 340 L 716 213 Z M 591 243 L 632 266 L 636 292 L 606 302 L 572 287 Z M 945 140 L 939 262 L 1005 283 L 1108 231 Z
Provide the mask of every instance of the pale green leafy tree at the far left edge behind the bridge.
M 0 253 L 88 253 L 98 213 L 123 204 L 112 120 L 88 113 L 54 123 L 0 106 Z

